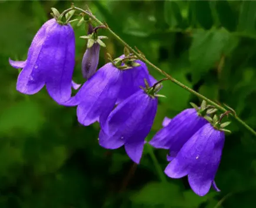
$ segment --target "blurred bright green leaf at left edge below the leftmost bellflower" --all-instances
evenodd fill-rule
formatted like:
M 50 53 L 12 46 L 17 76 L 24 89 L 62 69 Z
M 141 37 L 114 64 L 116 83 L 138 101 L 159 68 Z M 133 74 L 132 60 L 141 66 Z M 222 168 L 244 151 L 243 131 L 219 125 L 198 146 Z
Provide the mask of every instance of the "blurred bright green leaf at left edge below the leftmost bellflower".
M 0 114 L 0 135 L 37 133 L 44 122 L 40 107 L 35 102 L 22 101 L 9 106 Z

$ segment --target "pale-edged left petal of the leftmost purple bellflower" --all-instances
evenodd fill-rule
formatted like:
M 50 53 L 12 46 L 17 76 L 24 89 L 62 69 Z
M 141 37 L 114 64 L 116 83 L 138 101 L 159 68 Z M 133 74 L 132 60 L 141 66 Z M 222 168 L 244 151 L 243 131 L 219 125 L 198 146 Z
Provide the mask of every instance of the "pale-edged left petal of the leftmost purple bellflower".
M 47 40 L 50 30 L 54 30 L 57 22 L 55 19 L 48 20 L 38 30 L 37 34 L 33 38 L 33 41 L 28 50 L 28 57 L 23 70 L 20 72 L 17 79 L 17 90 L 24 94 L 34 94 L 43 88 L 45 84 L 45 71 L 46 69 L 41 66 L 40 59 L 43 45 Z M 49 56 L 49 55 L 48 55 Z

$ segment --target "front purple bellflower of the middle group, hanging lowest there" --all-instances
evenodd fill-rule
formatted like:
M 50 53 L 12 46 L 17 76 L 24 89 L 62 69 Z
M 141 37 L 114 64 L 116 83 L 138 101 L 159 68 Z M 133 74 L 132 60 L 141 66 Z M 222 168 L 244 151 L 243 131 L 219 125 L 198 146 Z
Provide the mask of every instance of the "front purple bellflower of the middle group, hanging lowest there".
M 156 109 L 157 98 L 140 89 L 110 113 L 100 131 L 100 145 L 106 149 L 117 149 L 124 145 L 127 155 L 139 163 Z

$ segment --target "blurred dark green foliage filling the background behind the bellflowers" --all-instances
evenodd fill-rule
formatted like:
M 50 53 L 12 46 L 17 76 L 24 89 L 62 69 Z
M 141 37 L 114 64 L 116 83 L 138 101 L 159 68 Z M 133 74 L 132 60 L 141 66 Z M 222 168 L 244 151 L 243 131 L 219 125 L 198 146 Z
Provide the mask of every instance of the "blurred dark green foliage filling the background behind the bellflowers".
M 63 11 L 70 1 L 0 1 L 0 207 L 1 208 L 254 208 L 256 138 L 232 122 L 216 183 L 222 190 L 199 197 L 187 178 L 160 182 L 148 154 L 137 167 L 124 149 L 98 145 L 99 126 L 79 125 L 76 109 L 58 106 L 45 89 L 25 96 L 15 89 L 18 71 L 8 58 L 26 59 L 27 49 L 50 8 Z M 180 82 L 210 99 L 226 103 L 256 129 L 255 1 L 75 1 L 90 9 L 131 46 Z M 86 28 L 76 27 L 74 79 Z M 123 46 L 109 33 L 100 51 L 120 56 Z M 156 79 L 163 78 L 149 68 Z M 165 82 L 150 132 L 200 100 Z M 185 131 L 185 129 L 184 129 Z M 154 150 L 161 168 L 166 151 Z M 228 196 L 225 200 L 223 197 Z

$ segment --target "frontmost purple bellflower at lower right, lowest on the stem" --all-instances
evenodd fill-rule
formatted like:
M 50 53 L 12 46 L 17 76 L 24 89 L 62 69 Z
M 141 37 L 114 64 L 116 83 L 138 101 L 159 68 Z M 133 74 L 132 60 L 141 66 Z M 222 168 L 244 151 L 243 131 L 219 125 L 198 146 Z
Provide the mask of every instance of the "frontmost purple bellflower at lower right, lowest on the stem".
M 214 178 L 219 167 L 224 141 L 223 131 L 214 129 L 210 123 L 203 125 L 167 165 L 165 174 L 170 178 L 182 178 L 188 175 L 190 187 L 200 196 L 206 195 L 211 185 L 220 191 Z

